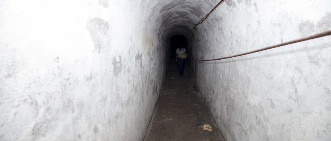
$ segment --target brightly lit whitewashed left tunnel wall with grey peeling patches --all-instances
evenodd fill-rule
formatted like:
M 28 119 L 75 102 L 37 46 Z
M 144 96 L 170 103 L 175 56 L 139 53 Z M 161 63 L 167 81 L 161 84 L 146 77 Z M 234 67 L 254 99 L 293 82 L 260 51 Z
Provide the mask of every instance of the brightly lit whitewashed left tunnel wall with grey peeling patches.
M 1 0 L 0 140 L 141 140 L 166 65 L 148 6 Z

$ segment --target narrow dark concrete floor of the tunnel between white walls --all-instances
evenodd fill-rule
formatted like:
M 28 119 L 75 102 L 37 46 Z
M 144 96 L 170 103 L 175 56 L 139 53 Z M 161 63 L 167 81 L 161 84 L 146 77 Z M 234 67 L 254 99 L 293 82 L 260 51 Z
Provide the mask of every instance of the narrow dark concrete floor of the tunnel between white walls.
M 203 130 L 204 124 L 213 131 Z M 145 141 L 223 141 L 207 106 L 185 68 L 179 76 L 174 62 L 170 63 L 166 81 Z

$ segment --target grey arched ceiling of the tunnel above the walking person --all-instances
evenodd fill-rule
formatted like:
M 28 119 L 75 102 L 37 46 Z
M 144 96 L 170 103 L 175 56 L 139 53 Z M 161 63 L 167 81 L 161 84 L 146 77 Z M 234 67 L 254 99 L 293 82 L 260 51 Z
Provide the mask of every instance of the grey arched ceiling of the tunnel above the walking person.
M 154 1 L 152 15 L 157 14 L 159 35 L 186 35 L 217 1 L 164 0 Z

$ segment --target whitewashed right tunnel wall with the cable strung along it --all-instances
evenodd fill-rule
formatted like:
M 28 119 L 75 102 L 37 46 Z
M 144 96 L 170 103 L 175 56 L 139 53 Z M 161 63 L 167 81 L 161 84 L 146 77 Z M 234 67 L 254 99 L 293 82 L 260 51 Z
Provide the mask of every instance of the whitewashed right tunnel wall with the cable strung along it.
M 198 26 L 192 55 L 212 59 L 331 29 L 329 0 L 227 0 Z M 331 37 L 192 70 L 228 141 L 331 139 Z

